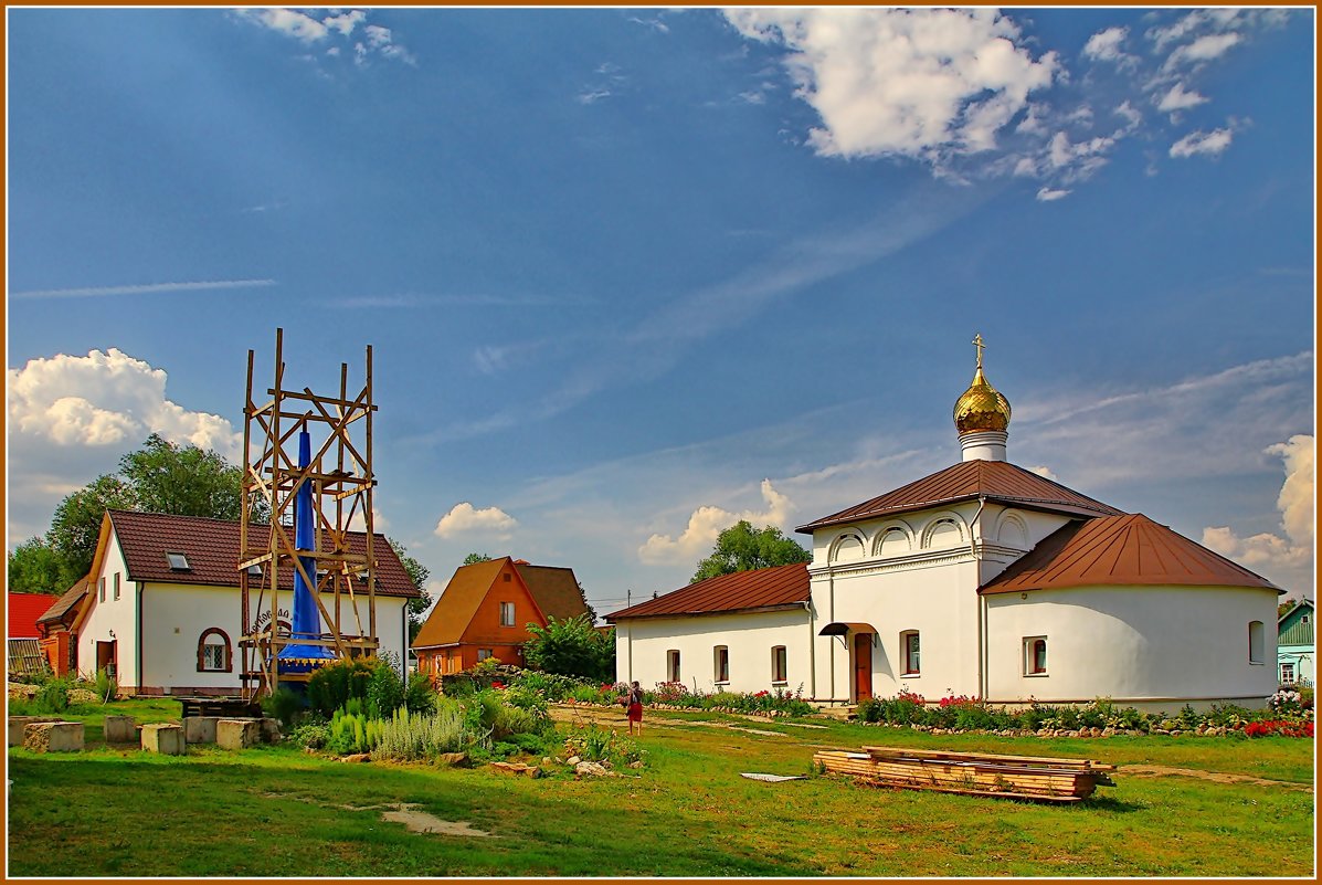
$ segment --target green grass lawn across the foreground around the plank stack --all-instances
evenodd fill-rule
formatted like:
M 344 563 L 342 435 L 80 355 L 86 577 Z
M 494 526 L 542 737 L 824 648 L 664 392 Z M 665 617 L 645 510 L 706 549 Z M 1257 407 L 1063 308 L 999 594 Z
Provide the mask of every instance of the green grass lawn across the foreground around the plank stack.
M 135 706 L 141 704 L 143 706 Z M 156 706 L 152 706 L 155 704 Z M 177 716 L 169 701 L 114 712 Z M 173 710 L 171 710 L 173 706 Z M 83 713 L 99 725 L 99 713 Z M 617 712 L 594 717 L 623 725 Z M 12 876 L 1289 876 L 1313 873 L 1313 742 L 940 736 L 649 712 L 646 766 L 575 780 L 346 765 L 288 747 L 182 758 L 9 750 Z M 566 728 L 566 726 L 562 726 Z M 751 729 L 751 730 L 750 730 Z M 759 734 L 755 732 L 772 732 Z M 865 743 L 1089 757 L 1116 787 L 1047 806 L 810 774 Z M 534 761 L 537 762 L 537 761 Z M 1132 769 L 1126 774 L 1125 766 Z M 1179 769 L 1194 774 L 1171 774 Z M 1155 771 L 1154 771 L 1155 770 Z M 1220 779 L 1212 779 L 1214 777 Z M 1236 780 L 1240 778 L 1243 780 Z M 1269 783 L 1264 783 L 1269 782 Z M 407 803 L 490 836 L 410 832 Z

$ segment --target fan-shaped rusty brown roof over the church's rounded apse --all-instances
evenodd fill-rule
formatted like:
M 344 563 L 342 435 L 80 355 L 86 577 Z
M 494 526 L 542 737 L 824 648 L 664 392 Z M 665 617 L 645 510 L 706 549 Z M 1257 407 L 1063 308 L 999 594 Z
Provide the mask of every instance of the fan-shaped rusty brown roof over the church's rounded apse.
M 1142 513 L 1130 513 L 1063 525 L 978 593 L 1159 585 L 1277 589 Z

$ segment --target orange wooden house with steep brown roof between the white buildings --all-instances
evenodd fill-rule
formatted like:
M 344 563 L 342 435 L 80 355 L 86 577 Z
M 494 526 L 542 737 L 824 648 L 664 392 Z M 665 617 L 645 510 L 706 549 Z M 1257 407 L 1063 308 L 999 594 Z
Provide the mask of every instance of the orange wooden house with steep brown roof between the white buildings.
M 509 557 L 460 566 L 414 639 L 418 669 L 457 673 L 488 657 L 522 667 L 529 623 L 582 614 L 587 602 L 572 569 Z

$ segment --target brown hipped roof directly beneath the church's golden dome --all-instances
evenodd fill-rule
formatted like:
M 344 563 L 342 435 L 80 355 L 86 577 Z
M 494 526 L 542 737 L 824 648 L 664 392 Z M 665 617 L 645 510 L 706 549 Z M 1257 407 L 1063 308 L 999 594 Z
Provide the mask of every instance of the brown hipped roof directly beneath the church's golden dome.
M 1067 513 L 1069 516 L 1116 516 L 1122 513 L 1114 507 L 1095 501 L 1087 495 L 1066 488 L 1046 476 L 1017 467 L 1003 460 L 966 460 L 947 467 L 931 476 L 902 485 L 870 501 L 855 504 L 830 516 L 824 516 L 798 532 L 812 534 L 813 529 L 843 523 L 871 520 L 892 513 L 925 511 L 945 507 L 958 501 L 986 497 L 989 501 L 1009 504 L 1029 509 Z

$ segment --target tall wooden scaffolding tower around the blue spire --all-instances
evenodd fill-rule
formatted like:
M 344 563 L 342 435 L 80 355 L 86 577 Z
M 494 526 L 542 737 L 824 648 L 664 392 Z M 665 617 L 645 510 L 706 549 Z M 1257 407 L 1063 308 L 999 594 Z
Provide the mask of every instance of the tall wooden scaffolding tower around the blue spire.
M 275 384 L 260 405 L 253 397 L 249 351 L 243 410 L 243 513 L 239 523 L 239 590 L 243 606 L 243 693 L 270 695 L 282 681 L 307 681 L 309 673 L 280 672 L 280 650 L 291 642 L 332 651 L 337 660 L 377 653 L 377 560 L 371 496 L 371 345 L 362 389 L 349 396 L 349 366 L 340 365 L 340 394 L 311 388 L 287 389 L 284 331 L 275 331 Z M 297 466 L 299 431 L 312 438 L 307 468 Z M 319 442 L 320 439 L 320 442 Z M 293 511 L 299 488 L 312 485 L 316 541 L 295 544 Z M 350 532 L 360 520 L 362 532 Z M 316 564 L 315 574 L 305 562 Z M 320 638 L 290 638 L 293 574 L 301 573 L 321 615 Z M 283 577 L 282 577 L 283 575 Z M 282 599 L 284 609 L 282 609 Z M 330 607 L 327 599 L 332 601 Z M 362 611 L 360 603 L 366 607 Z M 364 622 L 366 614 L 366 622 Z

